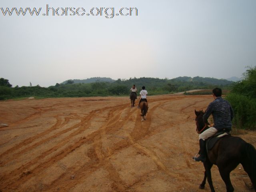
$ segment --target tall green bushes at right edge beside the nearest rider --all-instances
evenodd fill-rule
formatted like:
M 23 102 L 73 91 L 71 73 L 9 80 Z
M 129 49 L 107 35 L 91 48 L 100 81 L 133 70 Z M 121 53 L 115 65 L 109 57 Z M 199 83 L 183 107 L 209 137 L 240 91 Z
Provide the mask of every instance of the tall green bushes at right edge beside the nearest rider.
M 246 70 L 244 79 L 234 84 L 226 99 L 234 109 L 234 124 L 256 129 L 256 66 Z

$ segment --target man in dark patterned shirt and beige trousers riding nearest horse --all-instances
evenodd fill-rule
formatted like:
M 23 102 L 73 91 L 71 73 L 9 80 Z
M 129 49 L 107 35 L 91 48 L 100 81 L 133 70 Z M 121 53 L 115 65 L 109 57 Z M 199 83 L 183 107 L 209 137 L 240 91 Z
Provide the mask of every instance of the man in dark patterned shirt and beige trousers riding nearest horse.
M 200 145 L 200 156 L 193 157 L 196 161 L 205 162 L 206 160 L 206 140 L 211 136 L 214 136 L 220 130 L 231 131 L 232 119 L 234 117 L 233 109 L 227 100 L 224 100 L 222 96 L 222 90 L 220 88 L 215 88 L 212 90 L 212 96 L 214 101 L 211 102 L 204 113 L 203 120 L 205 127 L 208 127 L 208 118 L 212 114 L 214 120 L 214 126 L 206 129 L 199 135 L 199 145 Z

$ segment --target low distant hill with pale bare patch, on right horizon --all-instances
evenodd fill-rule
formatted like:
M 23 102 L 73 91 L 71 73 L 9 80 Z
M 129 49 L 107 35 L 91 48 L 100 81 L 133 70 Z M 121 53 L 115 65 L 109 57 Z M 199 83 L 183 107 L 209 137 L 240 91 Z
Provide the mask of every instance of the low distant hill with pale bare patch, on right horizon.
M 212 85 L 229 85 L 232 84 L 232 81 L 228 81 L 226 79 L 216 79 L 216 78 L 210 78 L 210 77 L 177 77 L 174 79 L 171 79 L 173 82 L 197 82 L 202 84 L 212 84 Z

